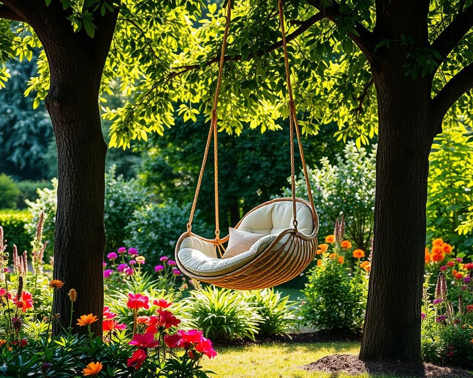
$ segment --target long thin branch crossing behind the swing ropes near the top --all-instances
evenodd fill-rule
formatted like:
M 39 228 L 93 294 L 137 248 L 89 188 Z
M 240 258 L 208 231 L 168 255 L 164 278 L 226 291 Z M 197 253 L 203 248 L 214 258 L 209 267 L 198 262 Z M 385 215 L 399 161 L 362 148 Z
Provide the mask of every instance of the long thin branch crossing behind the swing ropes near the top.
M 294 32 L 292 32 L 292 33 L 290 33 L 286 36 L 286 41 L 289 42 L 289 41 L 292 41 L 294 38 L 297 38 L 299 35 L 301 35 L 303 32 L 305 32 L 307 29 L 309 29 L 312 25 L 314 25 L 317 21 L 320 21 L 324 18 L 325 18 L 325 15 L 322 12 L 318 12 L 318 13 L 314 14 L 312 17 L 309 17 L 307 20 L 301 21 L 300 22 L 300 27 L 298 29 L 296 29 Z M 282 40 L 272 43 L 270 46 L 268 46 L 268 48 L 266 48 L 264 50 L 259 50 L 255 54 L 249 54 L 247 59 L 250 60 L 250 59 L 253 59 L 253 58 L 256 58 L 256 57 L 262 57 L 263 55 L 265 55 L 265 54 L 267 54 L 267 53 L 269 53 L 273 50 L 276 50 L 280 47 L 282 47 Z M 212 59 L 208 60 L 204 64 L 196 63 L 196 64 L 181 65 L 181 66 L 175 67 L 174 71 L 172 71 L 169 74 L 169 76 L 170 77 L 175 77 L 175 76 L 178 76 L 178 75 L 180 75 L 184 72 L 190 71 L 192 69 L 206 67 L 206 66 L 208 66 L 212 63 L 218 62 L 219 59 L 220 59 L 220 57 L 215 57 L 215 58 L 212 58 Z M 233 56 L 228 56 L 227 55 L 224 58 L 225 61 L 241 61 L 242 59 L 243 59 L 243 57 L 241 55 L 233 55 Z

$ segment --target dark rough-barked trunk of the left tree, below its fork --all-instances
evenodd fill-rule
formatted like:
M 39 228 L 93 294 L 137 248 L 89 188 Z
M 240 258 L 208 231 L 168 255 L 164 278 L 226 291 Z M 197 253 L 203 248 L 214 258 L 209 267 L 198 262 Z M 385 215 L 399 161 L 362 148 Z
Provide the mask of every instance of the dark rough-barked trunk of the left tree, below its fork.
M 105 245 L 103 198 L 105 186 L 106 145 L 101 134 L 97 92 L 87 86 L 73 89 L 53 86 L 46 106 L 56 135 L 58 148 L 58 210 L 54 240 L 54 278 L 65 283 L 54 298 L 53 313 L 68 328 L 70 322 L 69 289 L 77 291 L 72 314 L 76 319 L 92 313 L 99 321 L 92 324 L 101 334 L 103 310 L 102 261 Z M 53 332 L 62 331 L 58 322 Z

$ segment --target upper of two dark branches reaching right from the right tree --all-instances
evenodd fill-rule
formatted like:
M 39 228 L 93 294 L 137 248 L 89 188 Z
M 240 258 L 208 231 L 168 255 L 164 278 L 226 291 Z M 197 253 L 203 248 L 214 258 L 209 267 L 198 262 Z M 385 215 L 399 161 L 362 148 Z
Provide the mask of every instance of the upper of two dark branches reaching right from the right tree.
M 431 47 L 445 59 L 465 34 L 473 27 L 473 5 L 462 10 L 432 42 Z

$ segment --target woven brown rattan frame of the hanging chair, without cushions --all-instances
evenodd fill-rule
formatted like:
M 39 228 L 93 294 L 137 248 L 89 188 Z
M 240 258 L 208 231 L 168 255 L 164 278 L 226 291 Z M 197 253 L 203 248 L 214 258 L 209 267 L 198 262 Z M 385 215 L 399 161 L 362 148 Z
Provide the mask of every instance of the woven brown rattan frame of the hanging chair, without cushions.
M 248 214 L 251 214 L 253 211 L 263 206 L 270 205 L 271 203 L 292 200 L 292 198 L 276 198 L 265 202 L 246 213 L 235 228 L 238 228 L 241 221 L 243 221 Z M 246 265 L 221 276 L 207 277 L 196 275 L 188 271 L 181 263 L 178 252 L 182 241 L 188 236 L 194 236 L 204 242 L 215 245 L 216 249 L 223 249 L 223 244 L 228 241 L 229 236 L 227 235 L 218 240 L 205 239 L 195 233 L 189 235 L 188 232 L 184 232 L 176 244 L 175 257 L 179 269 L 186 276 L 195 280 L 239 290 L 254 290 L 272 287 L 299 276 L 315 257 L 319 223 L 317 212 L 312 210 L 312 207 L 306 200 L 296 198 L 296 201 L 304 204 L 310 209 L 314 225 L 313 231 L 310 235 L 304 235 L 295 228 L 287 228 L 280 232 L 276 239 L 264 251 L 257 253 L 255 258 Z M 279 241 L 286 236 L 288 236 L 288 238 L 282 247 L 278 246 L 276 248 Z

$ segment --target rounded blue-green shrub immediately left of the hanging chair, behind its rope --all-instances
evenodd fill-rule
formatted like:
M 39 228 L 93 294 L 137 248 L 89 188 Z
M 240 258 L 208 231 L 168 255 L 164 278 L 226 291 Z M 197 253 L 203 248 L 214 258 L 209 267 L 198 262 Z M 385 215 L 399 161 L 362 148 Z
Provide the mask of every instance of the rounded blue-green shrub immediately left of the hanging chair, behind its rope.
M 160 264 L 161 256 L 174 254 L 177 239 L 186 231 L 190 207 L 190 204 L 182 206 L 175 201 L 168 201 L 135 211 L 133 220 L 125 228 L 124 234 L 128 236 L 125 245 L 133 246 L 144 254 L 152 266 Z M 192 231 L 201 234 L 211 229 L 199 220 L 199 212 L 196 212 Z

